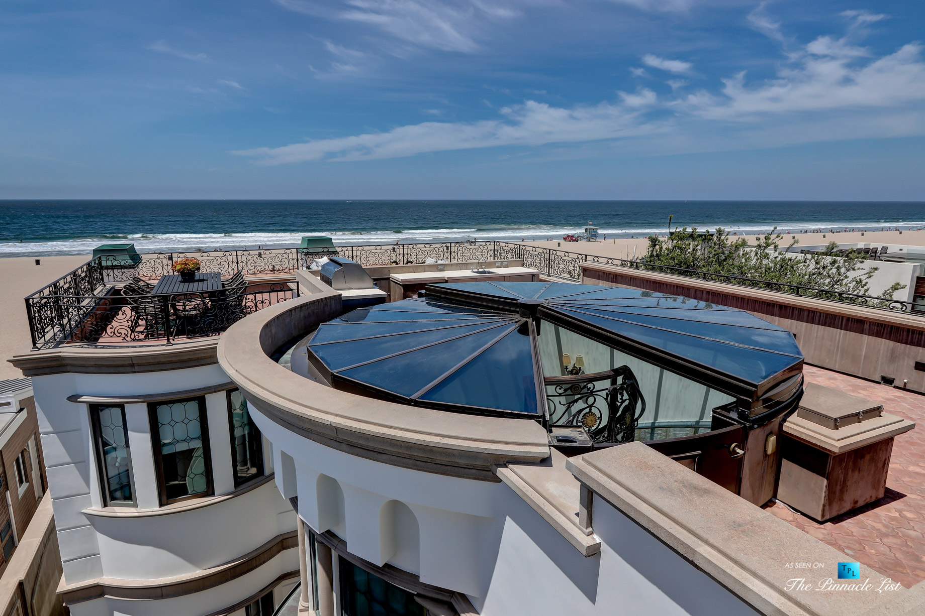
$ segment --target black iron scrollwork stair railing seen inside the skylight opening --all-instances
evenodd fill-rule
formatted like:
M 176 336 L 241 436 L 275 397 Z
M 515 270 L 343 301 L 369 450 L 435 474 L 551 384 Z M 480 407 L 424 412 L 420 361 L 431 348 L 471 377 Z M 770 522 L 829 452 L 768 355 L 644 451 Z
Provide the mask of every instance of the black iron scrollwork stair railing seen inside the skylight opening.
M 628 366 L 547 377 L 545 384 L 549 426 L 581 426 L 596 443 L 635 440 L 646 398 Z

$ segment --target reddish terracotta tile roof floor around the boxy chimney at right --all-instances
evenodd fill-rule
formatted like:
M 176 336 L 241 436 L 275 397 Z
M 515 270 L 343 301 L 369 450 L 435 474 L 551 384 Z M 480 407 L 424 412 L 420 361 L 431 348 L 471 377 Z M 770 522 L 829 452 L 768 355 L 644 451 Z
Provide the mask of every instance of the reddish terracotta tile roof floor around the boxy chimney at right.
M 925 395 L 812 366 L 804 374 L 808 381 L 880 403 L 884 413 L 905 417 L 917 426 L 894 441 L 886 494 L 880 501 L 824 524 L 792 513 L 780 503 L 768 511 L 907 588 L 918 584 L 925 580 Z

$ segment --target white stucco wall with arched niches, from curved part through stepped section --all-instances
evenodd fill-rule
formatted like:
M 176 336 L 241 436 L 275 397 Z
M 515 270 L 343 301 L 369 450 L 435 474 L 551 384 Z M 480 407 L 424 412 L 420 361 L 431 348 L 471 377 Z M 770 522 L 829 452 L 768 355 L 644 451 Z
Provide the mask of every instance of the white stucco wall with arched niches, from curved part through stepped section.
M 423 582 L 462 592 L 483 616 L 756 613 L 604 501 L 594 511 L 602 548 L 586 558 L 505 484 L 359 458 L 253 415 L 274 441 L 277 483 L 298 496 L 307 525 L 331 530 L 367 561 L 419 571 Z M 389 501 L 413 512 L 417 560 L 402 538 L 407 528 L 386 536 Z

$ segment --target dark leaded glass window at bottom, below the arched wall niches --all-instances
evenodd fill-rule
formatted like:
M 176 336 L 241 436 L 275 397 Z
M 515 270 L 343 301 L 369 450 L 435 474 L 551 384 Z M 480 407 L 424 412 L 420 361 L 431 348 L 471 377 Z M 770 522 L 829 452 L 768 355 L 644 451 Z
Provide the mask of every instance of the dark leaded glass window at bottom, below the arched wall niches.
M 344 616 L 424 616 L 414 595 L 365 572 L 345 558 L 340 562 L 340 609 Z

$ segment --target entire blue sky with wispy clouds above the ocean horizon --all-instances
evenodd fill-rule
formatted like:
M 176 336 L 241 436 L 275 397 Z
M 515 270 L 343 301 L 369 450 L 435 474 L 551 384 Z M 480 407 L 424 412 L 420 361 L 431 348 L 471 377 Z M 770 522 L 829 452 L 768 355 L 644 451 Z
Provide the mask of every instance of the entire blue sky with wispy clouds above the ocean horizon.
M 0 199 L 925 199 L 925 3 L 0 0 Z

